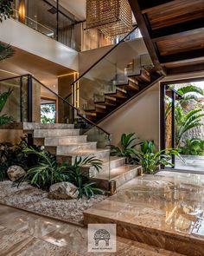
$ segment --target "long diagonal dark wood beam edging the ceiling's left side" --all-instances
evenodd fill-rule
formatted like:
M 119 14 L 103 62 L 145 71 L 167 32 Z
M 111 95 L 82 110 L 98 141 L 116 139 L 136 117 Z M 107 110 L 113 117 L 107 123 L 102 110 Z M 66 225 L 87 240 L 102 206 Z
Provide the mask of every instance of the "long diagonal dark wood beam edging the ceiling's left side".
M 131 10 L 137 20 L 137 25 L 143 35 L 143 41 L 149 51 L 150 58 L 156 67 L 156 70 L 161 74 L 161 75 L 166 75 L 166 70 L 162 67 L 161 63 L 159 62 L 158 56 L 156 54 L 156 47 L 155 44 L 151 42 L 149 30 L 147 29 L 145 20 L 143 18 L 143 14 L 140 10 L 139 4 L 137 3 L 136 0 L 128 0 L 130 5 L 131 5 Z

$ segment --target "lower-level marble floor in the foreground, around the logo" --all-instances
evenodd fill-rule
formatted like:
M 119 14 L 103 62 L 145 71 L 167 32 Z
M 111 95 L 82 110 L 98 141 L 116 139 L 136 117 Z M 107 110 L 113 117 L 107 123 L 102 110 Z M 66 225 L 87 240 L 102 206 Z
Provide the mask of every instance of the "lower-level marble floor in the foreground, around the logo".
M 1 256 L 181 256 L 133 240 L 117 238 L 117 253 L 87 253 L 87 230 L 0 205 Z

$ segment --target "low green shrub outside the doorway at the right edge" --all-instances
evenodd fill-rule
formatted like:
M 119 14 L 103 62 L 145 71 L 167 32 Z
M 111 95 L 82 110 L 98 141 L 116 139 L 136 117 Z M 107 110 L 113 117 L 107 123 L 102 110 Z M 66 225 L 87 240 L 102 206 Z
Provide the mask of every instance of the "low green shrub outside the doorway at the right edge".
M 204 141 L 199 139 L 187 139 L 181 147 L 181 154 L 204 155 Z

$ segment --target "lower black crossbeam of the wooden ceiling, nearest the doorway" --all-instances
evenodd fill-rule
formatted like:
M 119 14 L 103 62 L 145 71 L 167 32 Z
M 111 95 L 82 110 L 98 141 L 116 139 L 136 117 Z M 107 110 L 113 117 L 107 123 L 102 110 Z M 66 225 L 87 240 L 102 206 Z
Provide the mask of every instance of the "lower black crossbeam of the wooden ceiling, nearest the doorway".
M 194 49 L 191 51 L 179 52 L 176 54 L 171 54 L 168 56 L 160 56 L 159 61 L 161 63 L 170 63 L 170 62 L 189 62 L 190 59 L 203 58 L 204 59 L 204 49 Z

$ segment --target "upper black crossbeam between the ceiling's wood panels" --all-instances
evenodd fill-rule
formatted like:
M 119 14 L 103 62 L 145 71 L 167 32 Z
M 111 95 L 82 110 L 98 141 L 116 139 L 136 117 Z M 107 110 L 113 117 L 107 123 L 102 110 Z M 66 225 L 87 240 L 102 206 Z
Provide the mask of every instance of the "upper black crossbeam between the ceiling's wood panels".
M 150 37 L 154 42 L 166 39 L 169 36 L 183 36 L 192 33 L 192 30 L 199 30 L 204 33 L 204 18 L 195 19 L 186 23 L 179 23 L 158 30 L 151 30 Z

